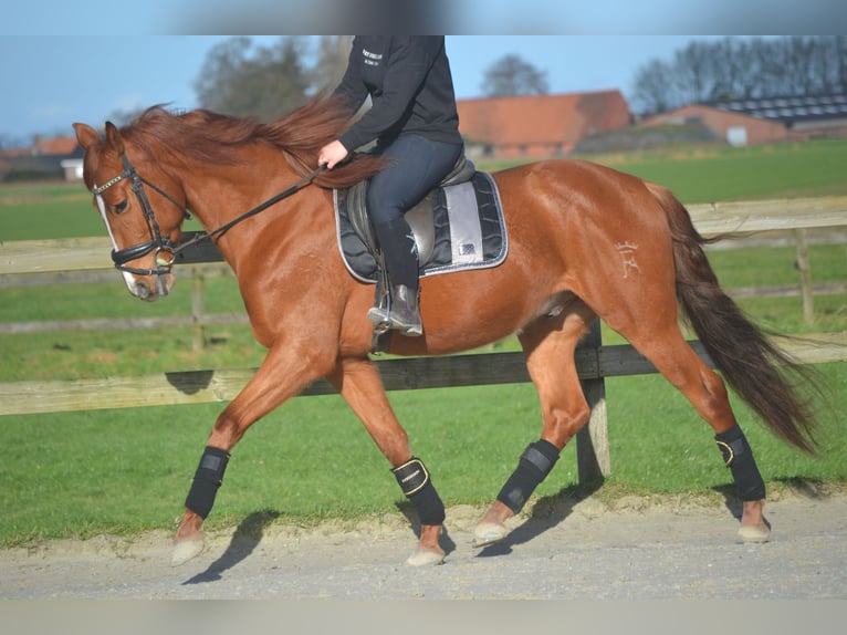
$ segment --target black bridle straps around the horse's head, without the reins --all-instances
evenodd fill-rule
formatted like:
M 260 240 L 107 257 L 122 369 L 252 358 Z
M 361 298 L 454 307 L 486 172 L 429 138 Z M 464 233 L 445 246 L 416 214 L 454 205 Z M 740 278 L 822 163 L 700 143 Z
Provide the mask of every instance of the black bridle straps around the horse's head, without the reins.
M 155 191 L 176 205 L 186 219 L 191 218 L 191 215 L 172 196 L 166 191 L 163 191 L 160 188 L 156 187 L 146 178 L 142 177 L 137 171 L 135 171 L 135 168 L 129 163 L 129 159 L 126 158 L 126 155 L 122 156 L 121 160 L 124 163 L 125 170 L 117 175 L 115 178 L 107 180 L 102 186 L 95 187 L 93 191 L 96 196 L 100 196 L 113 185 L 121 183 L 125 178 L 128 178 L 129 187 L 135 192 L 135 197 L 138 199 L 138 205 L 142 207 L 144 219 L 147 221 L 147 230 L 150 232 L 150 240 L 139 244 L 134 244 L 133 247 L 127 247 L 126 249 L 113 249 L 112 261 L 115 263 L 115 268 L 119 271 L 135 273 L 136 275 L 165 275 L 166 273 L 170 273 L 170 269 L 174 266 L 174 261 L 176 260 L 177 244 L 169 238 L 161 236 L 159 223 L 156 220 L 156 215 L 154 214 L 153 207 L 150 206 L 150 200 L 147 198 L 147 192 L 144 189 L 144 185 L 153 188 Z M 138 269 L 136 267 L 126 266 L 127 262 L 143 258 L 144 256 L 147 256 L 154 251 L 156 252 L 156 269 Z

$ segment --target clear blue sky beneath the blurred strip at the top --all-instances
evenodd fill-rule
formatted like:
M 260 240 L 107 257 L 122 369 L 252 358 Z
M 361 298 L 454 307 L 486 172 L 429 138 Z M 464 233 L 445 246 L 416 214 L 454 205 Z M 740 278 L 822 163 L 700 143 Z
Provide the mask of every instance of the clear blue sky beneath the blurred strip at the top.
M 209 49 L 228 37 L 2 37 L 0 137 L 70 134 L 71 124 L 100 126 L 116 111 L 158 103 L 197 105 L 192 84 Z M 270 44 L 279 35 L 253 37 Z M 552 93 L 619 89 L 639 65 L 670 60 L 688 37 L 448 35 L 458 98 L 480 96 L 488 66 L 515 53 L 547 72 Z

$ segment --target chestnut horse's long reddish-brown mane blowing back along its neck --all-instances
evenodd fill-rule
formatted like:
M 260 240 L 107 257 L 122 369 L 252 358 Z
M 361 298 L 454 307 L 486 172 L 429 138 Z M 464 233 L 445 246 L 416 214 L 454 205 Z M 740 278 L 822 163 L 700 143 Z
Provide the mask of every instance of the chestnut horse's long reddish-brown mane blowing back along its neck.
M 282 152 L 297 175 L 305 176 L 317 167 L 318 150 L 338 138 L 349 123 L 351 113 L 338 100 L 318 95 L 269 124 L 203 108 L 175 114 L 156 105 L 122 127 L 121 134 L 154 156 L 154 148 L 164 144 L 217 165 L 242 160 L 233 149 L 268 144 Z M 381 166 L 377 157 L 354 154 L 344 165 L 323 171 L 314 183 L 327 188 L 349 187 L 370 178 Z

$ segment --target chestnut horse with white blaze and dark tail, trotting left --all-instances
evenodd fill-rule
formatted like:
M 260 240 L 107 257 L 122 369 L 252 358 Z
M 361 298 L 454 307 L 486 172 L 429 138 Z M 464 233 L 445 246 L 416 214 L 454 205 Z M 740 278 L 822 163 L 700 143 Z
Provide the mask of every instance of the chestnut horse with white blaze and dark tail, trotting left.
M 85 149 L 85 185 L 130 293 L 153 301 L 170 291 L 174 251 L 190 210 L 232 267 L 253 333 L 268 348 L 215 423 L 175 537 L 174 564 L 202 550 L 202 522 L 247 429 L 321 377 L 360 418 L 418 513 L 420 534 L 408 563 L 445 556 L 443 504 L 368 358 L 374 289 L 348 273 L 336 240 L 333 188 L 366 179 L 380 165 L 368 155 L 333 170 L 315 165 L 317 150 L 348 123 L 348 113 L 316 98 L 270 124 L 158 106 L 121 129 L 106 123 L 103 137 L 74 124 Z M 775 434 L 806 451 L 814 449 L 811 413 L 778 369 L 790 360 L 719 287 L 705 240 L 683 206 L 662 187 L 583 160 L 543 160 L 493 177 L 505 214 L 506 260 L 425 278 L 423 336 L 395 335 L 389 348 L 443 355 L 512 333 L 523 346 L 541 399 L 541 438 L 523 451 L 480 519 L 477 544 L 506 535 L 504 521 L 588 420 L 574 351 L 597 318 L 652 362 L 714 429 L 743 501 L 739 534 L 767 540 L 765 488 L 753 452 L 723 378 L 683 339 L 678 305 L 726 382 Z M 284 196 L 274 197 L 281 190 Z M 273 206 L 262 206 L 269 199 Z M 270 208 L 254 214 L 262 207 Z M 234 221 L 248 210 L 249 219 Z

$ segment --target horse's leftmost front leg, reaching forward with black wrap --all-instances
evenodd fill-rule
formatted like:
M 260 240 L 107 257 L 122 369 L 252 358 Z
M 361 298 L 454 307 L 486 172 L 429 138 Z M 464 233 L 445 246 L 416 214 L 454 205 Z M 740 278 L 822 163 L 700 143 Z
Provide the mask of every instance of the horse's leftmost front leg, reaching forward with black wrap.
M 200 554 L 205 538 L 202 523 L 215 504 L 229 454 L 247 429 L 289 397 L 330 371 L 334 355 L 317 355 L 291 344 L 276 345 L 268 353 L 255 375 L 215 423 L 186 498 L 186 511 L 174 539 L 171 565 Z

